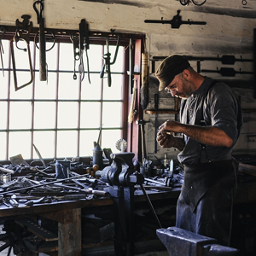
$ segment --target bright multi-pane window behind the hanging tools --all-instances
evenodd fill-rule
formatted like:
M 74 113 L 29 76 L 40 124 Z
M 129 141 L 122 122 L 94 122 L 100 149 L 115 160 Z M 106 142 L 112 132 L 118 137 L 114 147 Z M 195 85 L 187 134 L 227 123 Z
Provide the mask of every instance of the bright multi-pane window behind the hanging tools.
M 81 81 L 79 61 L 74 61 L 71 41 L 57 42 L 53 49 L 47 51 L 48 81 L 39 81 L 39 50 L 31 42 L 34 79 L 32 84 L 15 91 L 9 40 L 2 39 L 4 68 L 2 70 L 0 63 L 0 160 L 9 160 L 17 154 L 22 154 L 24 159 L 38 158 L 33 144 L 43 158 L 91 156 L 94 142 L 98 139 L 102 148 L 115 151 L 115 143 L 126 136 L 123 119 L 127 119 L 124 90 L 128 90 L 125 79 L 128 43 L 119 46 L 117 59 L 111 66 L 112 85 L 108 87 L 108 79 L 100 78 L 104 61 L 102 55 L 106 53 L 105 39 L 90 44 L 88 49 L 90 83 L 85 53 L 86 73 Z M 19 48 L 26 48 L 25 42 L 18 44 Z M 15 45 L 14 49 L 17 83 L 20 86 L 31 79 L 28 54 Z M 112 59 L 115 49 L 115 45 L 110 45 Z M 77 79 L 73 79 L 74 62 Z

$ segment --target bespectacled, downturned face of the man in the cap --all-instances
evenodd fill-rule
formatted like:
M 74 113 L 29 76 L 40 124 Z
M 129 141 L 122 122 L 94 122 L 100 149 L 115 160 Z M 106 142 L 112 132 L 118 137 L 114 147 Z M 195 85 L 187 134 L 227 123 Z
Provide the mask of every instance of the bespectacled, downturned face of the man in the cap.
M 177 98 L 187 99 L 191 96 L 194 90 L 194 84 L 183 78 L 183 73 L 177 74 L 172 82 L 166 86 L 167 93 L 172 93 L 172 96 Z

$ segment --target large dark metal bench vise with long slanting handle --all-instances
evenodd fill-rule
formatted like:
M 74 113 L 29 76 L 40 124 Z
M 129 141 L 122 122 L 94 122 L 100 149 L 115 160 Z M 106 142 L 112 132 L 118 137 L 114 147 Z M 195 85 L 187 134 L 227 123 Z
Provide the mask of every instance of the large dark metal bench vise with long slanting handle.
M 113 159 L 111 166 L 105 167 L 101 173 L 96 173 L 102 177 L 102 181 L 111 185 L 106 190 L 113 197 L 114 252 L 118 256 L 133 256 L 135 253 L 134 186 L 136 184 L 143 189 L 143 194 L 146 195 L 149 206 L 154 212 L 143 188 L 144 177 L 140 172 L 134 171 L 132 164 L 134 155 L 128 152 L 111 154 Z M 154 216 L 158 220 L 155 212 Z

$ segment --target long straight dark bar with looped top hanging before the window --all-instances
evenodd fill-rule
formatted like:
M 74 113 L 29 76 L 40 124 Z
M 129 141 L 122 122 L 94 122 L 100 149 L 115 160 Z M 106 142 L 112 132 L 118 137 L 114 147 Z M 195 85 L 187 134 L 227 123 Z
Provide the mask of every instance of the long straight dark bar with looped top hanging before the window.
M 40 12 L 37 9 L 37 4 L 40 4 Z M 33 9 L 37 13 L 38 25 L 39 25 L 39 79 L 40 81 L 47 80 L 46 71 L 46 43 L 44 33 L 44 0 L 38 0 L 33 3 Z

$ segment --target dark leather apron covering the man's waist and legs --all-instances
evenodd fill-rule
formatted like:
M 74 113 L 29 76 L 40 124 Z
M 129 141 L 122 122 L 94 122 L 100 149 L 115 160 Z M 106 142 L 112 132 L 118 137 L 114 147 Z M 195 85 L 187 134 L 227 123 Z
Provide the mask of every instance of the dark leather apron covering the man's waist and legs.
M 176 225 L 229 246 L 236 172 L 232 160 L 184 166 Z

